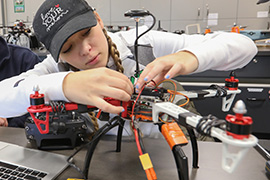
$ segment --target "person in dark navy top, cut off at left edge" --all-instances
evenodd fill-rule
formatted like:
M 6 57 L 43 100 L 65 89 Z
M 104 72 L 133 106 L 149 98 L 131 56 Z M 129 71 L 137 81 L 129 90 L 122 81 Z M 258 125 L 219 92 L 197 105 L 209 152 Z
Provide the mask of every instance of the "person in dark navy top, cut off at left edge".
M 35 64 L 39 62 L 39 57 L 30 49 L 7 44 L 0 36 L 0 81 L 33 69 Z M 5 86 L 1 87 L 1 92 L 3 91 L 5 91 Z M 9 99 L 8 97 L 4 98 Z M 16 102 L 13 103 L 10 108 L 16 107 Z M 0 118 L 0 126 L 24 127 L 26 118 L 27 115 L 8 119 Z

